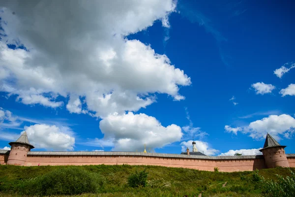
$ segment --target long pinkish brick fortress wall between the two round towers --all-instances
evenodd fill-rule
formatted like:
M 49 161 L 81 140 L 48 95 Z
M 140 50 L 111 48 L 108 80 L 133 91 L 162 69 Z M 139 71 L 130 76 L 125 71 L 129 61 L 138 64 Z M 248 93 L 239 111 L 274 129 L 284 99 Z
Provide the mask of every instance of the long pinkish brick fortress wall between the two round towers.
M 245 171 L 266 168 L 264 159 L 196 159 L 116 155 L 28 155 L 26 166 L 32 165 L 160 165 L 214 171 Z

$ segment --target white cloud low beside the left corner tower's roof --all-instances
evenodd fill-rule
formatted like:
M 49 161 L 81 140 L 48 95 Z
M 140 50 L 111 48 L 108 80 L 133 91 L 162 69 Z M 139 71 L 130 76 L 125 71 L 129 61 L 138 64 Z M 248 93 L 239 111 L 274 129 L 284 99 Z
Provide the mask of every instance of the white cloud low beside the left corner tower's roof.
M 75 138 L 68 127 L 57 127 L 55 125 L 36 124 L 25 127 L 29 142 L 36 148 L 52 150 L 73 150 Z

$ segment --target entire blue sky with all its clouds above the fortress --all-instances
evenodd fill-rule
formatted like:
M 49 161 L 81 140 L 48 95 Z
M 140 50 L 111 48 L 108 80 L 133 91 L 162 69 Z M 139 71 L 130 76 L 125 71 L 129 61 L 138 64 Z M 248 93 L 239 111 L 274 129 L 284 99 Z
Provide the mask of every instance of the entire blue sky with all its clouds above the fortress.
M 31 3 L 0 5 L 0 148 L 295 153 L 294 3 Z

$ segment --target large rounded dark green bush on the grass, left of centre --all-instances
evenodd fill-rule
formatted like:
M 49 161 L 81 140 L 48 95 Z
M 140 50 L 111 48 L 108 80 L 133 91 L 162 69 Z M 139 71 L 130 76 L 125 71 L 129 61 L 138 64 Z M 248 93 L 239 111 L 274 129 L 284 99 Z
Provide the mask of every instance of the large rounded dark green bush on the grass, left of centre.
M 77 168 L 59 168 L 20 186 L 20 193 L 28 196 L 76 195 L 95 193 L 104 180 L 91 172 Z

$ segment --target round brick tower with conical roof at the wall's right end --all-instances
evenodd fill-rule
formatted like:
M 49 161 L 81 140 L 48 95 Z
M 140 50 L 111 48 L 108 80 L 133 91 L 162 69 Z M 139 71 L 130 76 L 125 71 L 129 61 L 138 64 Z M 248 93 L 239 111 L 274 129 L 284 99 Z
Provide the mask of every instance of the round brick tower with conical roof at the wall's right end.
M 270 134 L 266 135 L 266 142 L 263 149 L 259 151 L 263 153 L 267 168 L 277 166 L 289 167 L 289 162 L 285 154 L 286 146 L 281 146 Z

